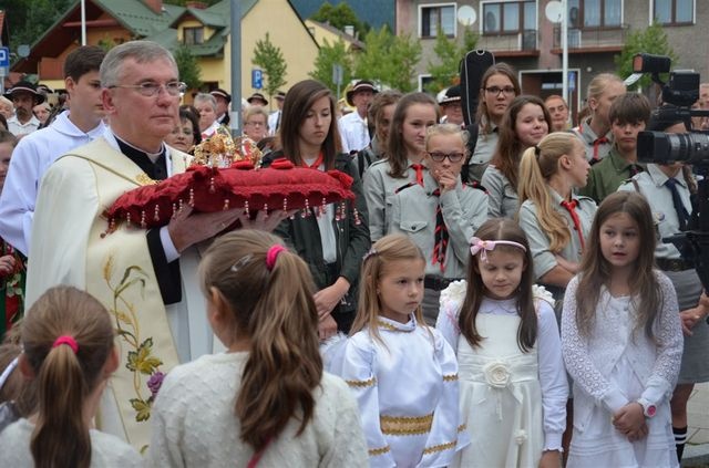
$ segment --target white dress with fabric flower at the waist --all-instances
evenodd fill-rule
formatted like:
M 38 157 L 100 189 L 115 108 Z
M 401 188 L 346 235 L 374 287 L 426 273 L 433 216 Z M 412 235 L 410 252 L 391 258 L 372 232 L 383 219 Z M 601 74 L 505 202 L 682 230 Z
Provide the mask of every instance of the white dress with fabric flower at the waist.
M 458 326 L 465 288 L 456 281 L 442 291 L 436 323 L 456 350 L 461 413 L 471 434 L 471 445 L 451 467 L 537 467 L 543 450 L 561 450 L 566 418 L 568 388 L 554 310 L 536 301 L 537 342 L 523 353 L 516 300 L 485 298 L 475 319 L 484 340 L 472 347 Z

